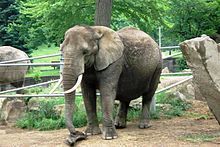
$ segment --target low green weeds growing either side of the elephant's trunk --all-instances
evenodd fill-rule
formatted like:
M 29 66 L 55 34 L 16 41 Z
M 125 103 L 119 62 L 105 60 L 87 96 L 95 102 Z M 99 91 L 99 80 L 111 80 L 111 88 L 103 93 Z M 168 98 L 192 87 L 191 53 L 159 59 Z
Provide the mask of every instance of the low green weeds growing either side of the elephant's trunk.
M 64 116 L 58 114 L 54 109 L 54 106 L 60 102 L 63 103 L 64 101 L 40 101 L 39 109 L 27 112 L 22 119 L 16 122 L 16 126 L 23 129 L 38 129 L 42 131 L 64 128 Z M 87 120 L 84 107 L 78 107 L 77 113 L 74 113 L 73 120 L 75 127 L 86 125 Z

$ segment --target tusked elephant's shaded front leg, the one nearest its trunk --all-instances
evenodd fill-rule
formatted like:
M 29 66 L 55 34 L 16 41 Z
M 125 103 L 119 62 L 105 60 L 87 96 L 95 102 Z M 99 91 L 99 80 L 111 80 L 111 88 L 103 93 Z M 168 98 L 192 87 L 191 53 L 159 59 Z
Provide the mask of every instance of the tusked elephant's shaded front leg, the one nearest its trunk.
M 86 135 L 101 134 L 99 128 L 97 113 L 96 113 L 96 85 L 92 85 L 87 82 L 87 79 L 83 79 L 81 83 L 83 99 L 85 109 L 87 113 L 87 128 L 85 130 Z

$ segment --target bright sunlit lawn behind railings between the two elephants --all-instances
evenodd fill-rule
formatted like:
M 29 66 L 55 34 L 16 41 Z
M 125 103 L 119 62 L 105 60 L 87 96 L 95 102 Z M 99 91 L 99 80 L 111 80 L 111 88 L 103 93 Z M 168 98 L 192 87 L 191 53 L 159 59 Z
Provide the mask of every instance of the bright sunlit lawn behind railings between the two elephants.
M 59 48 L 51 45 L 48 47 L 47 45 L 42 45 L 38 47 L 37 50 L 34 50 L 31 54 L 32 57 L 43 56 L 43 55 L 50 55 L 59 53 Z M 51 63 L 51 61 L 59 61 L 60 56 L 50 57 L 50 58 L 43 58 L 43 59 L 36 59 L 33 60 L 33 63 Z M 41 77 L 41 76 L 57 76 L 59 75 L 59 69 L 55 69 L 51 66 L 33 66 L 28 71 L 27 77 Z

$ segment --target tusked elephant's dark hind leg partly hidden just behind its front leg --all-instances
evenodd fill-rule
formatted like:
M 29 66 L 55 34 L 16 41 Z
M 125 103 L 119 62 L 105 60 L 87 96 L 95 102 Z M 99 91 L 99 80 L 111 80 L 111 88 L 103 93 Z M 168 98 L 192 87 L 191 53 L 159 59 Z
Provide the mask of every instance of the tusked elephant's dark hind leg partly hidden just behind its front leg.
M 115 118 L 115 127 L 117 129 L 122 129 L 126 127 L 126 119 L 127 119 L 129 103 L 130 102 L 120 101 L 118 112 Z

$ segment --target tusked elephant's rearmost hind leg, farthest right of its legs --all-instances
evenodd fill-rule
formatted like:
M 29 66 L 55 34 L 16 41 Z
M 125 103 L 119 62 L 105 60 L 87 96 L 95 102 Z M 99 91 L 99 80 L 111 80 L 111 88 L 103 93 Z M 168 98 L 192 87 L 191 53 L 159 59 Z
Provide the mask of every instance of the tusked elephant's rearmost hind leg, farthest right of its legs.
M 152 98 L 154 96 L 154 93 L 157 89 L 159 80 L 160 80 L 160 73 L 161 73 L 161 66 L 158 65 L 157 69 L 154 72 L 154 75 L 151 79 L 149 90 L 147 93 L 143 94 L 143 99 L 142 99 L 142 112 L 140 116 L 140 123 L 139 123 L 139 128 L 144 129 L 144 128 L 149 128 L 149 122 L 150 122 L 150 105 Z

